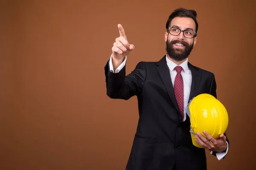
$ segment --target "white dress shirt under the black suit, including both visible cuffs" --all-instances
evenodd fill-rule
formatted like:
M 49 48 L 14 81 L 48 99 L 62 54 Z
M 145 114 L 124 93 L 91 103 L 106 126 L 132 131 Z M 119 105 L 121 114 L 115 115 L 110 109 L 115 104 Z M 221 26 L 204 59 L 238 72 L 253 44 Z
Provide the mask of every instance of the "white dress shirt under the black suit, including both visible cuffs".
M 175 80 L 175 76 L 177 74 L 177 71 L 174 69 L 177 64 L 175 64 L 174 62 L 172 62 L 166 55 L 166 61 L 167 61 L 167 65 L 168 65 L 168 68 L 169 68 L 169 71 L 170 71 L 170 75 L 171 75 L 171 79 L 172 79 L 172 86 L 174 86 L 174 80 Z M 124 61 L 122 62 L 121 65 L 119 65 L 118 68 L 116 68 L 115 71 L 113 71 L 113 64 L 112 64 L 112 55 L 110 57 L 110 60 L 109 60 L 109 68 L 110 68 L 110 71 L 112 73 L 118 73 L 124 66 L 125 66 L 125 63 L 126 63 L 126 56 L 125 56 L 125 59 Z M 192 74 L 191 74 L 191 71 L 189 69 L 189 66 L 188 66 L 188 58 L 180 64 L 180 66 L 182 67 L 182 71 L 181 71 L 181 75 L 182 75 L 182 78 L 183 78 L 183 89 L 184 89 L 184 119 L 183 121 L 186 120 L 186 108 L 187 108 L 187 105 L 188 105 L 188 102 L 189 102 L 189 94 L 190 94 L 190 89 L 191 89 L 191 83 L 192 83 Z M 226 142 L 227 143 L 227 142 Z M 227 151 L 228 151 L 228 143 L 227 143 L 227 150 L 226 152 L 216 152 L 216 156 L 218 158 L 218 160 L 221 160 L 226 154 L 227 154 Z M 210 152 L 211 154 L 213 153 L 212 151 Z

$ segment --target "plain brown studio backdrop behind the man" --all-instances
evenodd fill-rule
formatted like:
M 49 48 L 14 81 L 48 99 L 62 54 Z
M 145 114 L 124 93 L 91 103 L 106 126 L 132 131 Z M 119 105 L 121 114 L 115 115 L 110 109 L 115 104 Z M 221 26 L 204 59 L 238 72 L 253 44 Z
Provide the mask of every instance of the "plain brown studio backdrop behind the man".
M 124 170 L 138 121 L 136 97 L 106 96 L 104 66 L 121 23 L 135 50 L 127 74 L 165 55 L 177 7 L 198 12 L 189 61 L 212 71 L 229 112 L 230 150 L 209 170 L 256 168 L 253 0 L 17 0 L 0 5 L 0 169 Z

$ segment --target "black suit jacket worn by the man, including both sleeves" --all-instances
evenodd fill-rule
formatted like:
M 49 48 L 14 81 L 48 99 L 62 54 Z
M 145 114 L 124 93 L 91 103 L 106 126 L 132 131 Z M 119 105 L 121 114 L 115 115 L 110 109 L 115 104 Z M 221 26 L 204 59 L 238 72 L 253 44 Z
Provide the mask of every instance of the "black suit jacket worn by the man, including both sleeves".
M 189 100 L 203 93 L 216 97 L 214 74 L 188 66 L 192 72 Z M 172 170 L 175 164 L 177 170 L 207 169 L 204 148 L 192 144 L 189 117 L 181 121 L 165 56 L 158 62 L 139 62 L 127 76 L 125 67 L 111 73 L 108 61 L 105 76 L 110 98 L 138 99 L 140 118 L 126 170 Z

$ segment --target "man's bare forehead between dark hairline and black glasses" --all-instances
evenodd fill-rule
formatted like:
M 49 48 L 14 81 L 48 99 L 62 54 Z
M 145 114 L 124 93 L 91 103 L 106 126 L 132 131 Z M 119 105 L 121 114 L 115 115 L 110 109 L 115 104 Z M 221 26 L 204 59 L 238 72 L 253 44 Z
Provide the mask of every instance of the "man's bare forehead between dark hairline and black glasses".
M 172 19 L 170 27 L 178 26 L 180 29 L 192 28 L 195 31 L 195 21 L 187 17 L 175 17 Z

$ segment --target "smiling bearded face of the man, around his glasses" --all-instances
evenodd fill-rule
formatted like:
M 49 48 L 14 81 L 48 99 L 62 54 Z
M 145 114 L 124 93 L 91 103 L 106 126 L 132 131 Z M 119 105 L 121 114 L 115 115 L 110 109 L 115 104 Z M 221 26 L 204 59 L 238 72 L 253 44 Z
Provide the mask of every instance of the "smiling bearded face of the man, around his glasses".
M 195 22 L 192 18 L 175 17 L 169 27 L 179 28 L 181 30 L 195 31 Z M 174 30 L 179 31 L 179 30 Z M 186 59 L 195 45 L 197 37 L 184 37 L 183 32 L 179 35 L 165 34 L 166 52 L 168 56 L 176 61 Z

